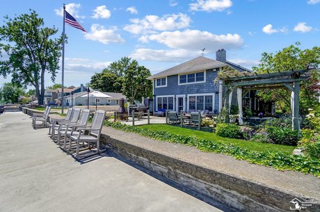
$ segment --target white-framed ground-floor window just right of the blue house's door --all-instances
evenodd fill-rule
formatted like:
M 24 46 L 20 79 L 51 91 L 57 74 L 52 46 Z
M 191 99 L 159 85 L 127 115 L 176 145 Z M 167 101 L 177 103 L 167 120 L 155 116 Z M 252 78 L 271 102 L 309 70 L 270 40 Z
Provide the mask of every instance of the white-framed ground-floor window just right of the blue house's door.
M 214 93 L 188 95 L 189 111 L 214 111 Z

